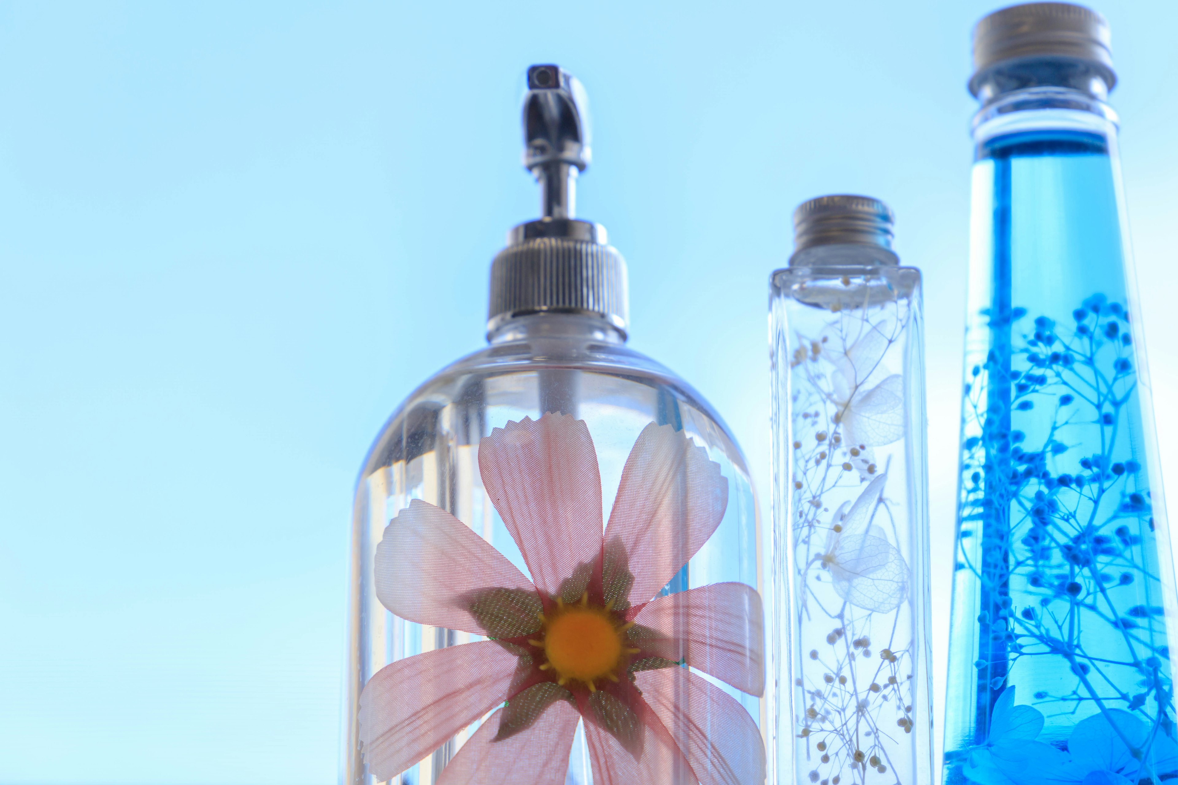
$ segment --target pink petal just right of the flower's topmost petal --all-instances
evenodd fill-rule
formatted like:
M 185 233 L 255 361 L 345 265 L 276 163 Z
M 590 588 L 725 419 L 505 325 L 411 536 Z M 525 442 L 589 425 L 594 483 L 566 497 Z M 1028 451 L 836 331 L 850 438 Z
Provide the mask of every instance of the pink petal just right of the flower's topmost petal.
M 727 506 L 728 480 L 706 450 L 669 425 L 643 428 L 605 528 L 607 563 L 620 545 L 634 573 L 630 603 L 659 593 L 708 541 Z M 604 568 L 608 583 L 610 565 Z

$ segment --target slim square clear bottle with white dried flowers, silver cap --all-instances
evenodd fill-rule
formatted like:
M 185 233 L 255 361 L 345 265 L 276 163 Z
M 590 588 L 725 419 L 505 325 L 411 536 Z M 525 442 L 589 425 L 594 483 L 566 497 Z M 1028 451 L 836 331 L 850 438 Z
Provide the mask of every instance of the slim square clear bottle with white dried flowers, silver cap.
M 920 271 L 898 266 L 875 199 L 814 199 L 794 226 L 769 295 L 770 678 L 792 684 L 770 754 L 782 785 L 927 783 Z

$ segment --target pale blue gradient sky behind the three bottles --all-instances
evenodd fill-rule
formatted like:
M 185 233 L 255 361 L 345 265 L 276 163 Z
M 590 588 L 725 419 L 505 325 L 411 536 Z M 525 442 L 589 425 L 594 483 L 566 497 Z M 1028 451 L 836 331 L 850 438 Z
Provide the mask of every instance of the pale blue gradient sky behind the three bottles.
M 580 212 L 629 261 L 633 345 L 710 398 L 762 498 L 790 212 L 895 209 L 927 281 L 941 681 L 965 81 L 995 7 L 0 4 L 0 783 L 336 780 L 352 483 L 483 341 L 490 259 L 536 214 L 532 62 L 589 91 Z M 1174 501 L 1178 4 L 1098 8 Z

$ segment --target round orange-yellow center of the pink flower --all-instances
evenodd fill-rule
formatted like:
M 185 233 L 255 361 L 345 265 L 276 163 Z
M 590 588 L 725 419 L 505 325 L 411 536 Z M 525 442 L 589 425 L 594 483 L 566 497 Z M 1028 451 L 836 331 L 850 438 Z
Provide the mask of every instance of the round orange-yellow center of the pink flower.
M 623 656 L 640 650 L 627 646 L 626 631 L 633 621 L 617 624 L 609 606 L 597 607 L 582 597 L 576 605 L 557 599 L 557 611 L 544 621 L 543 640 L 530 640 L 542 647 L 547 661 L 540 670 L 555 671 L 558 684 L 569 679 L 583 681 L 589 691 L 596 690 L 598 679 L 618 680 Z

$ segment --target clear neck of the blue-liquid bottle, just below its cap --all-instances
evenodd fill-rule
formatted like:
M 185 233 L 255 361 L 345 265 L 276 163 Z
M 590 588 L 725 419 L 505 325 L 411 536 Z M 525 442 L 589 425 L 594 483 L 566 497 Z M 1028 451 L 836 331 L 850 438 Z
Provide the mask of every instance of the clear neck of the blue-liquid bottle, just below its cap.
M 1097 134 L 1112 146 L 1117 124 L 1112 107 L 1087 91 L 1037 86 L 1005 93 L 982 106 L 973 117 L 973 140 L 984 145 L 1007 134 L 1058 131 Z

